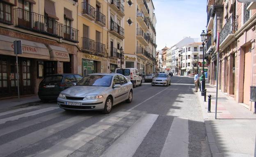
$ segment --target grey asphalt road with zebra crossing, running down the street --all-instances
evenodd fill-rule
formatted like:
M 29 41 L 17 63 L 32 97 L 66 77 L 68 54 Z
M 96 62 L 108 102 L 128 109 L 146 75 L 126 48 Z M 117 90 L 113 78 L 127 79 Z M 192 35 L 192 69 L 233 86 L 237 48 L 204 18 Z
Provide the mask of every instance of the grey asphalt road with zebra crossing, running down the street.
M 210 157 L 193 78 L 144 83 L 109 115 L 56 102 L 0 111 L 1 157 Z

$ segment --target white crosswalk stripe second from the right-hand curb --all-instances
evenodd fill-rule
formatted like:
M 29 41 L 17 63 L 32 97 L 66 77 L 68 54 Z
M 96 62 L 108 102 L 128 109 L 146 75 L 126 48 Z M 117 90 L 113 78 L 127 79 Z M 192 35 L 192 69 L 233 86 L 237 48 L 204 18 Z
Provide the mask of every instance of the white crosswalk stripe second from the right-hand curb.
M 146 114 L 137 120 L 101 157 L 132 157 L 158 115 Z

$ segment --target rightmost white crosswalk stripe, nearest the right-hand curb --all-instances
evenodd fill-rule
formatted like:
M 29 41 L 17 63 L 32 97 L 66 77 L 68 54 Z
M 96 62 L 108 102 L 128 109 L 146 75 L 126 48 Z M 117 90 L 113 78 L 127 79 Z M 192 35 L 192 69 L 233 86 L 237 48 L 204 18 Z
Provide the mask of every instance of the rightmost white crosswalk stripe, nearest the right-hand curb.
M 160 157 L 188 157 L 188 120 L 174 117 Z

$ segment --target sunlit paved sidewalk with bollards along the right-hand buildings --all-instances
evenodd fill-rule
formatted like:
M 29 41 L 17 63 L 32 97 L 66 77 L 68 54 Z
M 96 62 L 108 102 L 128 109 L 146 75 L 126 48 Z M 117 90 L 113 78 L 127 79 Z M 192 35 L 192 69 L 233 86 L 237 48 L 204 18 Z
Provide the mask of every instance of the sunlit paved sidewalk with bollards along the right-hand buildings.
M 198 95 L 213 157 L 254 157 L 256 115 L 218 91 L 215 119 L 216 87 L 206 84 L 206 89 L 207 102 L 203 102 L 201 92 Z M 212 95 L 211 113 L 207 113 L 208 95 Z

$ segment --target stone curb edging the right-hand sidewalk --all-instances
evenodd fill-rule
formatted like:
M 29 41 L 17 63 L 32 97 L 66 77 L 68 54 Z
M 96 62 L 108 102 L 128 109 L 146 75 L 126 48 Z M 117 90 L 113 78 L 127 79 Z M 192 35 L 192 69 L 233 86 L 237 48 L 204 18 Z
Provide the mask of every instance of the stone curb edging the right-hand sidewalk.
M 201 92 L 197 92 L 198 95 L 198 99 L 200 101 L 200 106 L 201 106 L 201 110 L 203 113 L 203 120 L 204 120 L 204 124 L 206 126 L 206 135 L 207 135 L 207 139 L 208 139 L 208 144 L 210 146 L 210 153 L 212 157 L 224 157 L 222 153 L 219 152 L 219 149 L 217 147 L 217 144 L 215 142 L 214 139 L 214 135 L 212 132 L 212 127 L 211 127 L 211 121 L 208 117 L 207 111 L 204 107 L 204 103 L 203 100 L 201 99 Z

